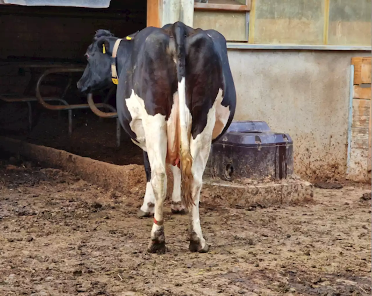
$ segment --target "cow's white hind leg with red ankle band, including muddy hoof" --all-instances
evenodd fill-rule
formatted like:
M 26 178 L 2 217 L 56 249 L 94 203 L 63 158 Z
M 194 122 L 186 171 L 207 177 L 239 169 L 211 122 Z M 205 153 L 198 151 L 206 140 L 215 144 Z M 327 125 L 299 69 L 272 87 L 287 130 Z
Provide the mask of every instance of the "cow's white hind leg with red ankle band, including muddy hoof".
M 163 115 L 148 116 L 144 122 L 146 149 L 151 167 L 151 186 L 154 192 L 154 223 L 148 251 L 164 253 L 165 236 L 163 226 L 163 204 L 166 197 L 167 131 Z

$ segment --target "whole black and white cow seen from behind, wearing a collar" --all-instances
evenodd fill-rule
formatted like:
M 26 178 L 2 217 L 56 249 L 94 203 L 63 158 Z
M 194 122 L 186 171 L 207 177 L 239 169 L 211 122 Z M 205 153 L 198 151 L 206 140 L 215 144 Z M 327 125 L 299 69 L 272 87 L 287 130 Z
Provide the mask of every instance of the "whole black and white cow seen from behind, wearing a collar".
M 150 213 L 148 205 L 154 204 L 148 251 L 165 252 L 163 203 L 170 163 L 176 188 L 172 200 L 177 205 L 182 199 L 190 215 L 189 249 L 207 252 L 199 220 L 202 175 L 211 143 L 229 127 L 236 105 L 224 36 L 182 22 L 147 27 L 123 39 L 98 30 L 86 56 L 78 89 L 92 92 L 111 81 L 118 84 L 119 120 L 144 150 L 148 182 L 141 210 Z

